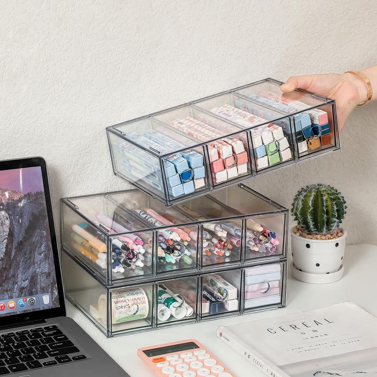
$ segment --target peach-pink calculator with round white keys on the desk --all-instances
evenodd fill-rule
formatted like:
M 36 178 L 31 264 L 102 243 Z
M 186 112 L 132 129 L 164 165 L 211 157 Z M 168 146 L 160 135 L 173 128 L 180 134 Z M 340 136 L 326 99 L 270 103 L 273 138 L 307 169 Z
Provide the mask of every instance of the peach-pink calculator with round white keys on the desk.
M 159 377 L 235 377 L 195 339 L 139 348 L 137 354 Z

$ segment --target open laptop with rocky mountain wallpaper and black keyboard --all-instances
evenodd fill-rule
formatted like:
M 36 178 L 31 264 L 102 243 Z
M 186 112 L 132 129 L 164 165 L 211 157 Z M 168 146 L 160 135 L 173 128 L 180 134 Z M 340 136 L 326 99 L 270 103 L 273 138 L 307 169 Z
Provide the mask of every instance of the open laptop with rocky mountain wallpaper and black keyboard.
M 0 161 L 2 375 L 129 377 L 66 316 L 46 161 L 41 157 Z

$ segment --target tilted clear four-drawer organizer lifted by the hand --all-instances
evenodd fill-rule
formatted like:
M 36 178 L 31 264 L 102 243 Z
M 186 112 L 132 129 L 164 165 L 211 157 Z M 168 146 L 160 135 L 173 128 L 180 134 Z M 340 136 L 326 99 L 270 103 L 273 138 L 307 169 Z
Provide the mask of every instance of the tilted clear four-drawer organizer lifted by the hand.
M 107 128 L 114 173 L 166 206 L 340 148 L 335 101 L 271 78 Z

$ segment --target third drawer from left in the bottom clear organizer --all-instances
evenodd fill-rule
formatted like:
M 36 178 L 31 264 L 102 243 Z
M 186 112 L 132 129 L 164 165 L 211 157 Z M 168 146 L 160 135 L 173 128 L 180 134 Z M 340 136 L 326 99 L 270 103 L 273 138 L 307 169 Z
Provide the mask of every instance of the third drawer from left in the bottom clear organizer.
M 202 276 L 202 318 L 240 312 L 241 277 L 241 269 Z

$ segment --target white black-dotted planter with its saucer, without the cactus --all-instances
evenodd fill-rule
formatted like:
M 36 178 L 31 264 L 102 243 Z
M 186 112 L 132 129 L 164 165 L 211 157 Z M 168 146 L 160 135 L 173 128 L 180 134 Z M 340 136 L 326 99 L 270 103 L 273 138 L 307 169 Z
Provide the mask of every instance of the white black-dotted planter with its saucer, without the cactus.
M 308 283 L 330 283 L 343 276 L 347 232 L 332 240 L 310 240 L 290 231 L 293 256 L 292 273 Z

